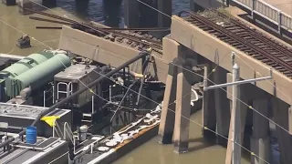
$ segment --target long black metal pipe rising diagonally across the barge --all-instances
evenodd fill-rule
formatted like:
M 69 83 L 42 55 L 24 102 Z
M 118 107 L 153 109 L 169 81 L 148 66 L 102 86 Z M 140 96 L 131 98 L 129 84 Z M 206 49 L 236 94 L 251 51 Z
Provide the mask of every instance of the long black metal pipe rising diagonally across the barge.
M 63 100 L 57 102 L 56 104 L 54 104 L 52 107 L 48 108 L 47 110 L 43 111 L 42 113 L 40 113 L 37 118 L 35 119 L 35 121 L 32 123 L 32 126 L 35 126 L 36 123 L 39 121 L 40 118 L 42 118 L 43 116 L 47 115 L 47 113 L 53 111 L 54 109 L 60 107 L 61 105 L 67 103 L 69 100 L 71 100 L 72 98 L 77 97 L 79 94 L 85 92 L 86 90 L 88 90 L 88 88 L 90 87 L 94 87 L 97 83 L 99 83 L 101 80 L 103 80 L 106 77 L 110 77 L 113 74 L 116 74 L 120 71 L 120 69 L 127 67 L 128 65 L 132 64 L 133 62 L 137 61 L 138 59 L 144 57 L 144 56 L 149 56 L 150 54 L 148 52 L 141 52 L 138 56 L 134 56 L 133 58 L 131 58 L 130 60 L 128 60 L 127 62 L 125 62 L 124 64 L 122 64 L 120 67 L 117 67 L 116 69 L 111 70 L 109 73 L 102 75 L 101 77 L 99 77 L 98 79 L 96 79 L 95 81 L 91 82 L 87 87 L 84 87 L 82 89 L 79 89 L 77 92 L 73 93 L 72 95 L 64 98 Z M 22 130 L 17 136 L 23 136 L 26 133 L 26 130 Z M 0 149 L 5 147 L 6 145 L 8 145 L 10 142 L 14 141 L 15 138 L 8 138 L 5 142 L 2 142 L 0 144 Z

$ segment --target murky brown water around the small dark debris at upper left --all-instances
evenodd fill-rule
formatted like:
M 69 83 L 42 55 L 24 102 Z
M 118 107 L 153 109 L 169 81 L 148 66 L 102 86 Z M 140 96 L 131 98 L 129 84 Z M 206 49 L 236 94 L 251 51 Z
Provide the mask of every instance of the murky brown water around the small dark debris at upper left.
M 60 9 L 57 8 L 57 10 Z M 10 26 L 5 25 L 1 21 L 5 21 L 5 23 Z M 23 33 L 36 38 L 40 42 L 44 42 L 47 46 L 57 48 L 60 30 L 36 29 L 36 26 L 56 26 L 56 24 L 31 20 L 27 15 L 19 15 L 18 7 L 5 6 L 3 4 L 0 4 L 0 22 L 0 53 L 27 56 L 47 48 L 33 39 L 31 39 L 31 48 L 18 48 L 16 46 L 16 40 L 20 38 Z M 11 26 L 16 27 L 19 31 Z

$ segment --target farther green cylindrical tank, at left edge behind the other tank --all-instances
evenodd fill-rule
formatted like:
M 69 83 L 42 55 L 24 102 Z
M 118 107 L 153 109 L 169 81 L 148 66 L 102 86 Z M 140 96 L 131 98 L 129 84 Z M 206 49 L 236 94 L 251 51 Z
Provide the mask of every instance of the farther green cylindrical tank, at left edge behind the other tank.
M 0 75 L 7 74 L 7 77 L 16 77 L 20 74 L 26 72 L 28 69 L 32 67 L 36 67 L 37 65 L 47 61 L 47 59 L 54 56 L 53 53 L 42 52 L 39 54 L 32 54 L 30 56 L 26 56 L 24 59 L 16 62 L 10 67 L 6 67 L 4 70 L 0 72 Z

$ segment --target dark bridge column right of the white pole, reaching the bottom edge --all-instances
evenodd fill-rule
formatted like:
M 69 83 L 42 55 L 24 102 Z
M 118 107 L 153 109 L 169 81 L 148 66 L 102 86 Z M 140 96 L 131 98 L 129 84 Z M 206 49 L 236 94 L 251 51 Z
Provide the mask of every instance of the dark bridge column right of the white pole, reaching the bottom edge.
M 251 151 L 256 156 L 251 156 L 252 164 L 265 164 L 270 161 L 270 138 L 269 121 L 259 113 L 268 117 L 268 101 L 265 99 L 255 99 L 253 101 L 253 135 L 251 137 Z

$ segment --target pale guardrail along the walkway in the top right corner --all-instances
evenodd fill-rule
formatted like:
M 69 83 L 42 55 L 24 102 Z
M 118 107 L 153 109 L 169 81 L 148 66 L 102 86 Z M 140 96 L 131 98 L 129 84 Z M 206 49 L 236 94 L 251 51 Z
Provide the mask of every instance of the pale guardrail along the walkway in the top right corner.
M 278 33 L 281 34 L 281 28 L 292 30 L 292 16 L 283 13 L 273 5 L 269 5 L 262 0 L 232 0 L 238 5 L 249 9 L 253 18 L 260 15 L 270 22 L 276 24 Z

